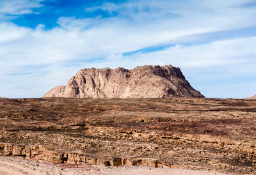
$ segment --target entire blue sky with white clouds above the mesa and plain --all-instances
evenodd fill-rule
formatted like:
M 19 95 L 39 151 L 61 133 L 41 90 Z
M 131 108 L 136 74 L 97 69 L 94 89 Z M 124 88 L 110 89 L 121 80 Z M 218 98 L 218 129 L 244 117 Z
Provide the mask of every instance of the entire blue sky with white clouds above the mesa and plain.
M 0 0 L 0 96 L 82 68 L 173 65 L 209 98 L 256 94 L 256 0 Z

